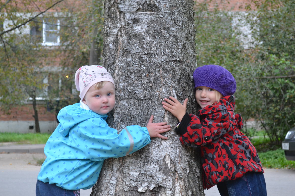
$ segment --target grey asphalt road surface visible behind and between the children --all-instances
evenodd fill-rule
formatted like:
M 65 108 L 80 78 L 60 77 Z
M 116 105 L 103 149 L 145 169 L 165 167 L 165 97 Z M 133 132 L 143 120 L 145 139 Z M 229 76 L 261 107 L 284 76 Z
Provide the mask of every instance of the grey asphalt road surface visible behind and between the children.
M 16 145 L 0 143 L 0 190 L 1 195 L 35 195 L 40 166 L 36 163 L 45 158 L 44 144 Z M 295 170 L 265 169 L 264 177 L 268 196 L 294 196 Z M 80 196 L 89 196 L 91 189 L 81 190 Z M 217 187 L 204 190 L 206 196 L 220 196 Z

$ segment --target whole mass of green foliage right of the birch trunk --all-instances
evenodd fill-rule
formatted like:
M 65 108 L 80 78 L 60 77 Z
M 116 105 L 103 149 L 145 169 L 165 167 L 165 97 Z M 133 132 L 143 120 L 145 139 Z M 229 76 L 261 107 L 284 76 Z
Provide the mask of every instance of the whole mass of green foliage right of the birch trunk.
M 247 12 L 224 9 L 227 1 L 197 2 L 198 66 L 229 69 L 237 81 L 236 112 L 244 125 L 254 118 L 271 142 L 280 143 L 295 126 L 294 1 L 251 1 L 243 7 Z M 248 33 L 241 28 L 245 25 Z M 243 131 L 247 134 L 247 127 Z

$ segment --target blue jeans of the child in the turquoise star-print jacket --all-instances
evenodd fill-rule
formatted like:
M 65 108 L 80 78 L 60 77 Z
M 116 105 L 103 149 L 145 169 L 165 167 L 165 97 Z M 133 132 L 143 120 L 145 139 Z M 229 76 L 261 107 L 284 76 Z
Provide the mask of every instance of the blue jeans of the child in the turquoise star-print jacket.
M 66 190 L 55 184 L 37 180 L 36 196 L 80 196 L 80 190 Z

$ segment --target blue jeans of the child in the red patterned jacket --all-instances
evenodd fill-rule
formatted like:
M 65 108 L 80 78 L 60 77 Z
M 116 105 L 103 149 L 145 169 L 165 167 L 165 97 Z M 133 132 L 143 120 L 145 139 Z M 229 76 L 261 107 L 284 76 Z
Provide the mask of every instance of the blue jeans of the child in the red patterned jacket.
M 221 196 L 267 196 L 263 173 L 247 172 L 236 180 L 217 184 Z

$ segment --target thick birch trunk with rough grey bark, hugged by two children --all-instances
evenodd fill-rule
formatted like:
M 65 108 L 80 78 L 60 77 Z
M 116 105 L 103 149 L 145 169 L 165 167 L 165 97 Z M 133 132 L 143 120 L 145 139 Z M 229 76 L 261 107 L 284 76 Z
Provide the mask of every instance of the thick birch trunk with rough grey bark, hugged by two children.
M 105 161 L 91 195 L 204 195 L 198 152 L 174 132 L 177 119 L 162 107 L 168 96 L 194 105 L 196 68 L 193 0 L 106 0 L 103 66 L 112 74 L 116 106 L 109 125 L 122 130 L 167 121 L 168 140 Z

